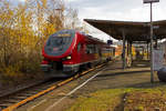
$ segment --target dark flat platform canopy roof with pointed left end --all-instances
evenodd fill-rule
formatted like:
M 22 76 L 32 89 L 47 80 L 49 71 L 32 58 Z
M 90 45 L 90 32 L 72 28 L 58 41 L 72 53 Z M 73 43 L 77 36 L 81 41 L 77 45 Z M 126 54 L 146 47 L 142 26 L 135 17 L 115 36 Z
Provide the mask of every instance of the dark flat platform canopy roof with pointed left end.
M 123 40 L 123 32 L 128 41 L 149 41 L 149 22 L 113 21 L 84 19 L 91 26 L 107 33 L 116 40 Z M 154 39 L 166 38 L 166 20 L 154 21 Z

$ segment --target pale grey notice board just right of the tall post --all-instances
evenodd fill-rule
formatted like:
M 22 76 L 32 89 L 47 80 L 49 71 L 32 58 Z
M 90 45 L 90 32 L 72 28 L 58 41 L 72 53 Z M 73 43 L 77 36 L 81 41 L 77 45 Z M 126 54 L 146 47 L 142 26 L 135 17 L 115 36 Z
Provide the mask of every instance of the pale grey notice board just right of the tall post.
M 153 60 L 153 67 L 155 71 L 158 71 L 163 68 L 164 63 L 164 52 L 163 50 L 154 50 L 153 51 L 154 60 Z

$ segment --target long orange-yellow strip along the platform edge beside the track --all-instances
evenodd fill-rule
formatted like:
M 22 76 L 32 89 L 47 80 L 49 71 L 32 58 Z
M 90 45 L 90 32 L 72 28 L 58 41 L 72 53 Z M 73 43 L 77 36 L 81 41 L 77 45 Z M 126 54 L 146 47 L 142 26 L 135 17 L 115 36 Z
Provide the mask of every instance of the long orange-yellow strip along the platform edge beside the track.
M 84 72 L 82 72 L 81 74 L 77 73 L 77 74 L 75 74 L 74 77 L 70 78 L 70 79 L 66 79 L 66 80 L 64 80 L 64 81 L 58 83 L 56 85 L 53 85 L 53 87 L 51 87 L 51 88 L 49 88 L 49 89 L 46 89 L 46 90 L 43 90 L 43 91 L 41 91 L 41 92 L 39 92 L 39 93 L 34 94 L 34 95 L 31 95 L 31 97 L 29 97 L 29 98 L 27 98 L 27 99 L 24 99 L 24 100 L 22 100 L 22 101 L 20 101 L 20 102 L 18 102 L 18 103 L 15 103 L 15 104 L 12 104 L 12 105 L 10 105 L 10 107 L 3 109 L 2 111 L 13 111 L 13 110 L 17 109 L 18 107 L 20 107 L 20 105 L 22 105 L 22 104 L 25 104 L 27 102 L 30 102 L 30 101 L 32 101 L 32 100 L 34 100 L 34 99 L 37 99 L 37 98 L 43 95 L 43 94 L 45 94 L 45 93 L 48 93 L 48 92 L 50 92 L 50 91 L 56 89 L 58 87 L 61 87 L 61 85 L 63 85 L 63 84 L 65 84 L 65 83 L 72 81 L 72 80 L 79 78 L 80 75 L 86 74 L 86 73 L 89 73 L 89 72 L 91 72 L 91 71 L 93 71 L 93 70 L 95 70 L 95 69 L 97 69 L 97 68 L 101 68 L 102 65 L 104 65 L 104 64 L 101 64 L 101 65 L 97 65 L 97 67 L 95 67 L 95 68 L 89 69 L 87 71 L 84 71 Z

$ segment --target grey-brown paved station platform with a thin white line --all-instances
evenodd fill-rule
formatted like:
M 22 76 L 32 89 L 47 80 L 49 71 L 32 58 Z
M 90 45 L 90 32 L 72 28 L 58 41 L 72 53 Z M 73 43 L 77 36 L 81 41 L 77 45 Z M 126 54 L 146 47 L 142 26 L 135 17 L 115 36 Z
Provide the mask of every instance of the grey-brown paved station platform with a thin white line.
M 154 80 L 155 82 L 152 84 L 151 69 L 148 65 L 133 65 L 124 70 L 122 69 L 122 61 L 117 60 L 115 62 L 108 62 L 103 69 L 97 69 L 97 71 L 81 77 L 66 85 L 20 107 L 17 111 L 89 111 L 82 109 L 80 104 L 76 110 L 73 110 L 73 105 L 77 102 L 77 98 L 89 99 L 93 95 L 91 93 L 110 89 L 148 89 L 160 85 L 166 87 L 158 81 L 156 74 Z M 93 109 L 93 111 L 97 110 Z

